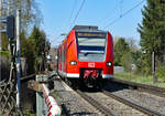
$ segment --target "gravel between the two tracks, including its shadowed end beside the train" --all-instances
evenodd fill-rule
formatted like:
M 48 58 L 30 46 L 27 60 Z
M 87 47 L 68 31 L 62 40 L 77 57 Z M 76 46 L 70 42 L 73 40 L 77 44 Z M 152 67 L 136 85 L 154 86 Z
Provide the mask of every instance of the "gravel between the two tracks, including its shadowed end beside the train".
M 125 88 L 123 85 L 116 83 L 107 84 L 105 89 L 122 98 L 139 104 L 143 107 L 150 108 L 160 114 L 165 114 L 165 98 L 163 97 L 152 95 L 145 92 L 140 92 L 138 89 L 129 89 Z

